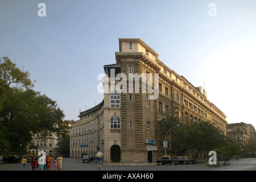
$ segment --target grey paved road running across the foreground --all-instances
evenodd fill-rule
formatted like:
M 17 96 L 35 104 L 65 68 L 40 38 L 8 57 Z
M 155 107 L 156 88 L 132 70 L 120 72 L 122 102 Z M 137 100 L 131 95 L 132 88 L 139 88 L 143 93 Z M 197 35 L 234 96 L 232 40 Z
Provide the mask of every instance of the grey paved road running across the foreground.
M 22 171 L 20 164 L 0 164 L 0 171 Z M 27 163 L 25 171 L 32 171 L 30 163 Z M 49 171 L 55 171 L 53 164 Z M 60 170 L 56 170 L 60 171 Z M 82 159 L 64 158 L 61 171 L 99 171 L 95 162 L 82 163 Z M 114 164 L 102 165 L 100 171 L 256 171 L 256 158 L 242 158 L 230 160 L 230 165 L 221 167 L 208 167 L 205 163 L 178 164 L 158 166 L 139 164 Z

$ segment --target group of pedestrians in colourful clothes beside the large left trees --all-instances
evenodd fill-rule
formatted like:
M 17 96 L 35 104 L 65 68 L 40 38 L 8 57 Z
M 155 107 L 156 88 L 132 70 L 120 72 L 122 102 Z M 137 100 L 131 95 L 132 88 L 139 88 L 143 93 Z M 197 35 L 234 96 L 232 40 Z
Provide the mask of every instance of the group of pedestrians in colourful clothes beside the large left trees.
M 52 157 L 50 155 L 46 156 L 46 155 L 41 154 L 41 156 L 38 160 L 36 160 L 35 157 L 31 160 L 32 171 L 49 170 L 52 162 L 53 162 L 53 167 L 55 170 L 57 168 L 62 169 L 62 161 L 63 161 L 62 156 L 59 156 L 57 158 L 57 156 L 55 155 L 54 159 L 52 159 Z M 20 162 L 22 163 L 22 168 L 24 171 L 25 166 L 27 164 L 26 158 L 23 157 L 23 159 Z

